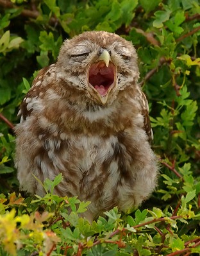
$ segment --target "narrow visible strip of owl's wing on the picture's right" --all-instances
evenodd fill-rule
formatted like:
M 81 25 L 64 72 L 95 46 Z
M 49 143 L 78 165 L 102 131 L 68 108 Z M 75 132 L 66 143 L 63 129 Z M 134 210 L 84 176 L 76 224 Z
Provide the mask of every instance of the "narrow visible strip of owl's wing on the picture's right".
M 151 129 L 151 122 L 150 122 L 150 118 L 149 118 L 149 104 L 146 98 L 146 95 L 144 94 L 144 92 L 142 92 L 141 90 L 139 90 L 139 95 L 138 95 L 138 100 L 140 102 L 140 111 L 141 114 L 144 116 L 144 130 L 147 133 L 148 136 L 148 141 L 151 144 L 151 142 L 153 141 L 153 131 Z

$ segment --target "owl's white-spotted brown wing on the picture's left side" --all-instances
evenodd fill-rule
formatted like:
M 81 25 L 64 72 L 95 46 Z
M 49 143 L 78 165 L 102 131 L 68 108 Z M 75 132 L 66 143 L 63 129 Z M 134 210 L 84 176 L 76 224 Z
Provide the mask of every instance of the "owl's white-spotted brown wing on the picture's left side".
M 55 64 L 44 67 L 39 71 L 38 75 L 33 80 L 31 89 L 28 91 L 28 93 L 26 94 L 26 97 L 21 103 L 21 108 L 18 113 L 18 115 L 21 115 L 20 123 L 22 123 L 22 121 L 25 121 L 26 118 L 29 115 L 31 115 L 31 112 L 33 112 L 34 102 L 35 104 L 37 104 L 36 99 L 40 97 L 40 92 L 42 92 L 42 90 L 44 89 L 44 85 L 42 85 L 42 82 L 44 81 L 46 76 L 51 75 L 52 68 L 54 67 L 55 67 Z M 33 101 L 33 99 L 35 100 Z

